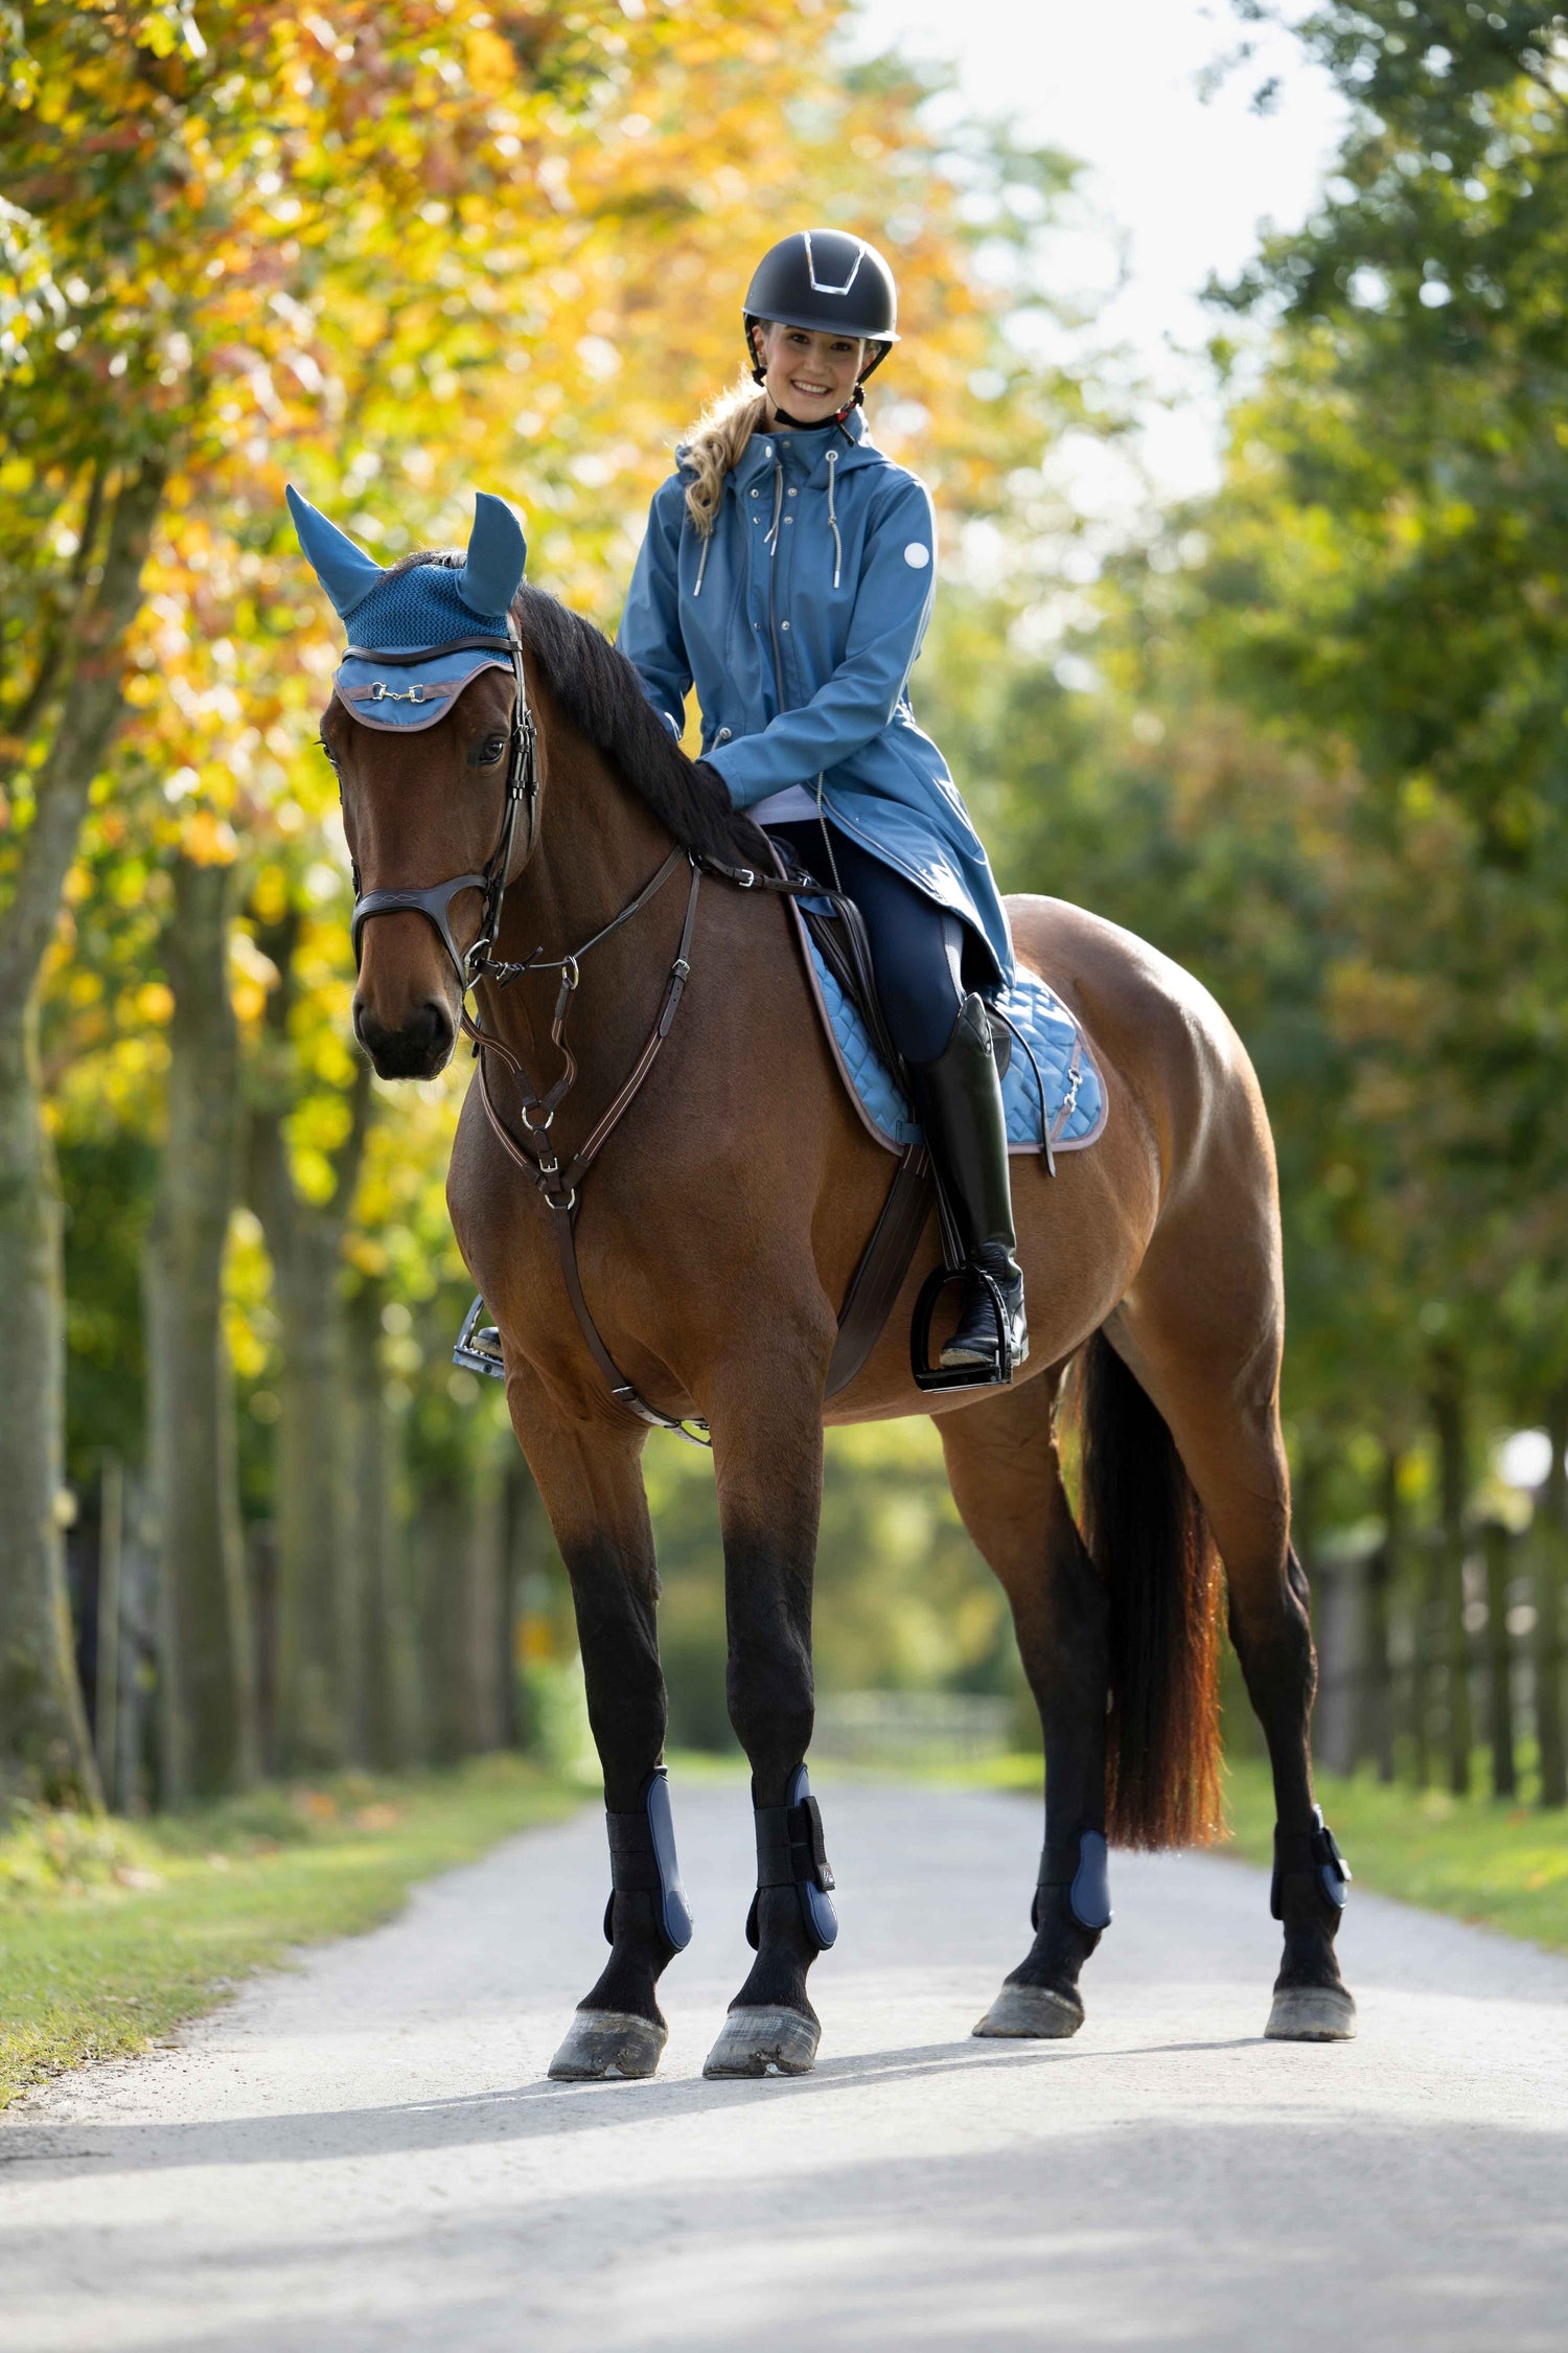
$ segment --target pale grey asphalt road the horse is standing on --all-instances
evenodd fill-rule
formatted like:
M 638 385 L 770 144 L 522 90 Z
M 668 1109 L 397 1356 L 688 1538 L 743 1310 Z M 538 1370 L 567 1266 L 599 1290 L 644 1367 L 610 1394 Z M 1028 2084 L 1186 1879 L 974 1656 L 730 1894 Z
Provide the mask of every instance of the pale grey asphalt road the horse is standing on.
M 973 2042 L 1034 1807 L 823 1786 L 818 2071 L 703 2082 L 750 1814 L 675 1809 L 656 2082 L 543 2080 L 602 1955 L 585 1812 L 12 2111 L 7 2353 L 1561 2353 L 1568 1960 L 1356 1889 L 1361 2038 L 1262 2042 L 1262 1873 L 1114 1857 L 1081 2035 Z

